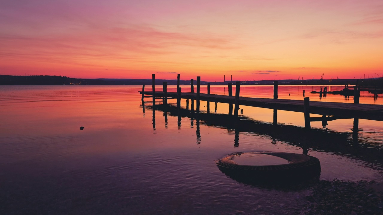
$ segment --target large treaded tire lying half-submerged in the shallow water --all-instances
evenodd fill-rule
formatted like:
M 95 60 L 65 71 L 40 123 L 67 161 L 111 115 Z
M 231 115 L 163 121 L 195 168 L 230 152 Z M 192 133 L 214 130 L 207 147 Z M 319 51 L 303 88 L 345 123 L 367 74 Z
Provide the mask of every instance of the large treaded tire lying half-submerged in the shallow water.
M 286 160 L 279 165 L 240 165 L 236 163 L 239 155 L 271 155 Z M 318 158 L 308 155 L 285 152 L 240 152 L 228 155 L 217 161 L 218 168 L 233 179 L 241 182 L 303 181 L 316 178 L 321 173 Z

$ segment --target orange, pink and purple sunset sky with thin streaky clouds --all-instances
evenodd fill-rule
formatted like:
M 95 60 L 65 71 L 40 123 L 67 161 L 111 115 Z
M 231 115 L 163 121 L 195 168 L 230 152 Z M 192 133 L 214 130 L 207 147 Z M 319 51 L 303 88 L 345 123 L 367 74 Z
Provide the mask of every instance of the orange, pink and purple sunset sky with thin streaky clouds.
M 383 76 L 382 0 L 2 0 L 0 75 Z

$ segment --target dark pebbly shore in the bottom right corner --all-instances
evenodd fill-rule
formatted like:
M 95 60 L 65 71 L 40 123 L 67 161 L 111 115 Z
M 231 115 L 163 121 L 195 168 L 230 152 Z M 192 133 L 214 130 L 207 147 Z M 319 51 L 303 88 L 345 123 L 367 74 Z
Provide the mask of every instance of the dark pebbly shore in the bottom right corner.
M 375 181 L 324 181 L 310 188 L 300 214 L 358 215 L 383 214 L 383 185 Z

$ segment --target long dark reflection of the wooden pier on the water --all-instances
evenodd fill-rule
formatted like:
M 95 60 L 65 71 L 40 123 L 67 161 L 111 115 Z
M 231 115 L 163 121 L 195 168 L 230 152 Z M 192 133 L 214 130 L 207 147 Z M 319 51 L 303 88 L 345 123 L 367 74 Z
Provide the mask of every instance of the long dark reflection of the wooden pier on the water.
M 147 108 L 153 108 L 147 106 Z M 170 115 L 178 116 L 177 108 L 172 105 L 158 104 L 156 110 L 164 111 L 167 109 Z M 190 125 L 193 127 L 194 113 L 186 109 L 180 109 L 182 117 L 191 119 Z M 239 147 L 239 132 L 247 134 L 261 134 L 268 136 L 272 142 L 281 141 L 289 145 L 301 147 L 303 154 L 307 154 L 309 150 L 329 151 L 336 154 L 347 155 L 360 160 L 372 163 L 383 163 L 381 153 L 383 148 L 376 145 L 370 145 L 367 141 L 361 142 L 358 138 L 358 132 L 334 132 L 325 129 L 312 128 L 306 131 L 304 127 L 285 124 L 273 124 L 270 122 L 256 121 L 246 116 L 238 116 L 235 120 L 234 116 L 228 114 L 206 114 L 200 112 L 197 114 L 197 143 L 201 143 L 200 123 L 215 127 L 224 127 L 234 130 L 234 147 Z M 201 121 L 201 122 L 200 122 Z M 350 147 L 351 146 L 351 147 Z

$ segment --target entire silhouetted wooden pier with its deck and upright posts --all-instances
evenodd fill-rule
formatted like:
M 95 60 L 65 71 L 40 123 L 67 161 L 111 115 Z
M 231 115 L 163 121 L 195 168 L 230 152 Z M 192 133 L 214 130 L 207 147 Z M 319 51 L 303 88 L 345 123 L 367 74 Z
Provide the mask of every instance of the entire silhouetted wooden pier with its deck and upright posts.
M 154 80 L 154 75 L 153 75 L 153 80 Z M 179 80 L 179 75 L 178 75 L 178 80 Z M 179 87 L 179 85 L 177 86 L 177 93 L 167 92 L 165 83 L 163 85 L 163 91 L 154 91 L 154 86 L 152 91 L 144 91 L 144 86 L 143 86 L 142 91 L 140 91 L 139 93 L 142 94 L 142 100 L 144 99 L 144 97 L 151 97 L 153 98 L 153 101 L 154 99 L 163 99 L 163 101 L 167 103 L 167 99 L 177 98 L 178 108 L 180 106 L 180 99 L 191 99 L 192 106 L 193 106 L 193 100 L 196 100 L 197 112 L 199 112 L 200 101 L 235 104 L 234 116 L 238 116 L 239 105 L 274 109 L 275 115 L 277 110 L 303 112 L 305 127 L 307 129 L 310 129 L 310 122 L 312 121 L 321 121 L 322 123 L 327 124 L 327 121 L 331 121 L 331 120 L 354 118 L 354 128 L 355 128 L 355 123 L 358 124 L 358 119 L 383 121 L 383 105 L 359 104 L 359 91 L 357 91 L 357 94 L 354 95 L 354 104 L 350 104 L 350 103 L 309 101 L 308 97 L 304 98 L 303 101 L 293 100 L 293 99 L 278 99 L 278 82 L 277 81 L 275 81 L 274 83 L 274 98 L 273 99 L 250 98 L 250 97 L 239 96 L 239 93 L 240 93 L 239 81 L 236 82 L 235 96 L 232 96 L 231 83 L 228 85 L 229 87 L 228 96 L 210 94 L 210 90 L 208 91 L 207 94 L 200 93 L 199 82 L 200 82 L 200 77 L 197 77 L 197 92 L 196 93 L 194 92 L 194 88 L 192 84 L 191 84 L 190 93 L 181 93 L 181 88 Z M 231 105 L 229 107 L 231 107 Z M 319 115 L 322 115 L 322 117 L 309 117 L 309 114 L 319 114 Z M 357 128 L 357 125 L 356 125 L 356 128 Z

